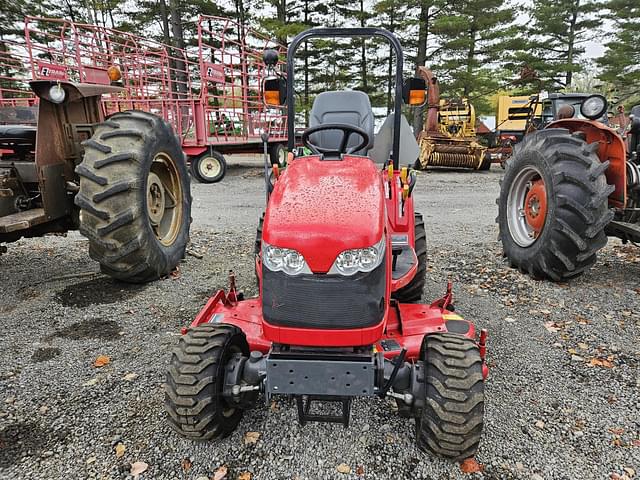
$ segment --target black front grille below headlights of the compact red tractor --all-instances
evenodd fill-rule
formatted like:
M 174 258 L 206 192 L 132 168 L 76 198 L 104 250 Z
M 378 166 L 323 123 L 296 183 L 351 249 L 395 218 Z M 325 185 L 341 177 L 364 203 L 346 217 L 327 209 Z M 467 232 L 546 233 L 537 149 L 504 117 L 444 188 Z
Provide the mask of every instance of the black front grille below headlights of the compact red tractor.
M 291 276 L 262 267 L 262 313 L 283 327 L 339 329 L 380 323 L 384 315 L 385 261 L 368 273 Z

